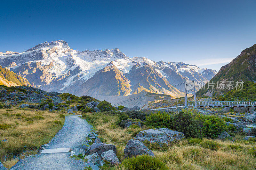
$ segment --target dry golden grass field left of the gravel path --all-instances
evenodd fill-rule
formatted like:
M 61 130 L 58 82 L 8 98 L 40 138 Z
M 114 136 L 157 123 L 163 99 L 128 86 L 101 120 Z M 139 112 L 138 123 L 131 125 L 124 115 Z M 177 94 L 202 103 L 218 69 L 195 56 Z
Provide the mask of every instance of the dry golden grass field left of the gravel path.
M 0 109 L 0 141 L 8 139 L 0 144 L 0 158 L 4 166 L 10 168 L 18 161 L 12 159 L 12 155 L 18 155 L 24 149 L 30 153 L 22 154 L 34 154 L 39 146 L 48 143 L 64 123 L 60 113 L 34 109 Z M 5 162 L 4 157 L 7 158 Z

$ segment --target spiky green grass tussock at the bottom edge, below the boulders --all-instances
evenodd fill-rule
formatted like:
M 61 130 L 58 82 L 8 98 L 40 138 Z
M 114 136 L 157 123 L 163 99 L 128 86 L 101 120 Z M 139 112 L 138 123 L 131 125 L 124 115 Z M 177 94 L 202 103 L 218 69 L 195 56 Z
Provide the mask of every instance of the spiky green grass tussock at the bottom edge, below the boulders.
M 125 170 L 169 170 L 159 159 L 149 155 L 139 155 L 125 159 L 121 165 Z

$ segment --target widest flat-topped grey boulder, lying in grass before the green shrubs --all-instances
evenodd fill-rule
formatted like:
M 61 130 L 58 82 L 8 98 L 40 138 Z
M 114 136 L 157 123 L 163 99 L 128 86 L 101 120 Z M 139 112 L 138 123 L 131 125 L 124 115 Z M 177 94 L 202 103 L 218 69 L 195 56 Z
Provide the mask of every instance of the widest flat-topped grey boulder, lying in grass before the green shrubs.
M 168 144 L 170 141 L 173 140 L 180 140 L 185 138 L 184 134 L 179 131 L 173 131 L 168 128 L 160 128 L 160 129 L 148 129 L 144 131 L 140 131 L 136 136 L 135 139 L 140 141 L 148 140 L 153 143 Z

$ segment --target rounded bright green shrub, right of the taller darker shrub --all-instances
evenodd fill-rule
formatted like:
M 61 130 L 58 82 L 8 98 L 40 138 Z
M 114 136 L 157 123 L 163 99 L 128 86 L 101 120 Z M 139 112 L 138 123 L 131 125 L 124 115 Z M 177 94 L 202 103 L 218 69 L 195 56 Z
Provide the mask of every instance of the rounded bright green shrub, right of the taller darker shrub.
M 200 117 L 203 127 L 201 133 L 206 138 L 217 138 L 227 129 L 224 119 L 217 115 L 203 115 Z

